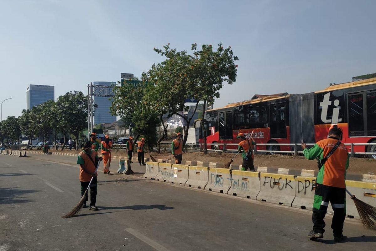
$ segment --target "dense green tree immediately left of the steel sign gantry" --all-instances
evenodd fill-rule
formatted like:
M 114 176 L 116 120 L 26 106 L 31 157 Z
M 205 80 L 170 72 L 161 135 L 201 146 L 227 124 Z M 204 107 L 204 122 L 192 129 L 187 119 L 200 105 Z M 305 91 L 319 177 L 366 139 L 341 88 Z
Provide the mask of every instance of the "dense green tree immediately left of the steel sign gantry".
M 56 104 L 59 108 L 59 128 L 64 134 L 61 151 L 64 150 L 65 136 L 68 133 L 75 135 L 76 150 L 78 150 L 79 135 L 87 126 L 87 99 L 81 91 L 70 91 L 60 96 Z

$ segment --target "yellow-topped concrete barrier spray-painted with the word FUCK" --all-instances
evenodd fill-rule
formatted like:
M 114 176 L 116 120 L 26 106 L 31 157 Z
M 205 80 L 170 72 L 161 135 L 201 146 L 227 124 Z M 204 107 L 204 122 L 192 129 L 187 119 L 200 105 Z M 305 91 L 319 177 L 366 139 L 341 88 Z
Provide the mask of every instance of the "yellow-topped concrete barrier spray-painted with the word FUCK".
M 291 207 L 295 198 L 294 178 L 294 175 L 260 173 L 257 200 Z

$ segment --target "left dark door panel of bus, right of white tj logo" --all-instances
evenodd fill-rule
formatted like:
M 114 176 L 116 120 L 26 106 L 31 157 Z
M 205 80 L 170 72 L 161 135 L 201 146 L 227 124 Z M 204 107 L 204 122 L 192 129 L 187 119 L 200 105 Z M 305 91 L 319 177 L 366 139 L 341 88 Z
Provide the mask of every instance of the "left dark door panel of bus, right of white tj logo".
M 364 136 L 363 94 L 349 94 L 350 136 Z

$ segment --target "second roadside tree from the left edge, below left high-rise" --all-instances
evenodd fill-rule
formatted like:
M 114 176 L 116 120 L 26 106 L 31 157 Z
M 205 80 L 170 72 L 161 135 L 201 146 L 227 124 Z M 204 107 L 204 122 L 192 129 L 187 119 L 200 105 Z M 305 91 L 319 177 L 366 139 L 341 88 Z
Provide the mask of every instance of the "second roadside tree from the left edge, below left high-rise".
M 30 149 L 33 149 L 32 140 L 38 133 L 35 111 L 35 107 L 32 110 L 23 110 L 22 115 L 18 117 L 18 125 L 20 126 L 21 133 L 29 138 Z

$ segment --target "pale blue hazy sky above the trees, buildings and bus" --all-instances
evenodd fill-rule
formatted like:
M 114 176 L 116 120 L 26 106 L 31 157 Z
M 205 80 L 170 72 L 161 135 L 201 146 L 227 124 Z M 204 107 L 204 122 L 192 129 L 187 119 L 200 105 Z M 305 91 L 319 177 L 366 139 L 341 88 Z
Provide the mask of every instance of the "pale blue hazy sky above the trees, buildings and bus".
M 26 108 L 29 84 L 55 98 L 93 81 L 140 76 L 170 43 L 231 46 L 238 78 L 215 107 L 253 94 L 305 93 L 376 72 L 376 1 L 0 1 L 3 119 Z

